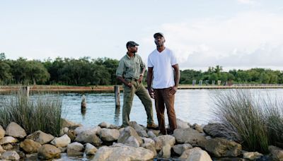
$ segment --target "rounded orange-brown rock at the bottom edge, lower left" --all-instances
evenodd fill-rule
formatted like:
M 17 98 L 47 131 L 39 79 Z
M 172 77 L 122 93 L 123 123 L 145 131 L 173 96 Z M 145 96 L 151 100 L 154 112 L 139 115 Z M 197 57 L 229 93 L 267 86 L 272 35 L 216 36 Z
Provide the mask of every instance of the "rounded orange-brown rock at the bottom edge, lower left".
M 37 157 L 41 160 L 49 160 L 61 156 L 61 151 L 54 145 L 45 144 L 40 147 L 37 153 Z

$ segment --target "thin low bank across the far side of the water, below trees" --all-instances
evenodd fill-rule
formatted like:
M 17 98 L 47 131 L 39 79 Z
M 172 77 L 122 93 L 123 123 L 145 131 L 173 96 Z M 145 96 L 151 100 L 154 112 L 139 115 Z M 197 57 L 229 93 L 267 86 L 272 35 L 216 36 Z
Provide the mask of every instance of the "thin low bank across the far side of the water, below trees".
M 0 85 L 0 92 L 19 90 L 23 85 Z M 122 85 L 120 90 L 123 90 Z M 71 86 L 71 85 L 30 85 L 30 91 L 35 92 L 114 92 L 114 85 L 92 85 L 92 86 Z M 178 89 L 262 89 L 262 88 L 283 88 L 282 84 L 239 84 L 239 85 L 179 85 Z

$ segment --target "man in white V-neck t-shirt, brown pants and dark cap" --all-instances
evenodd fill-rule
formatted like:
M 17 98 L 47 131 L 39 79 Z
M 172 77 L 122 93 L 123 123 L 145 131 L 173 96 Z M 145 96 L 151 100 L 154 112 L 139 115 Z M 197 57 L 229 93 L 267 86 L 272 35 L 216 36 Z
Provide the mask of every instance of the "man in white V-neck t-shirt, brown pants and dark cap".
M 147 90 L 155 100 L 159 130 L 163 135 L 172 134 L 177 128 L 174 100 L 180 81 L 180 71 L 175 55 L 171 49 L 164 46 L 165 39 L 161 32 L 154 34 L 154 42 L 156 49 L 149 54 L 147 64 L 149 67 Z M 167 131 L 164 119 L 165 107 L 170 126 Z

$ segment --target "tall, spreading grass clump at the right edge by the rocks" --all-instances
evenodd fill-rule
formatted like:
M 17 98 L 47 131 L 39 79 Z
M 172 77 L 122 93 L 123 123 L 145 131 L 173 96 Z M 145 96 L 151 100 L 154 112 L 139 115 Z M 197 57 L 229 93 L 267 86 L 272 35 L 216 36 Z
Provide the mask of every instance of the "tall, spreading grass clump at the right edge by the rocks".
M 250 90 L 229 90 L 214 97 L 214 115 L 224 129 L 222 136 L 250 151 L 268 153 L 268 145 L 282 142 L 282 103 Z

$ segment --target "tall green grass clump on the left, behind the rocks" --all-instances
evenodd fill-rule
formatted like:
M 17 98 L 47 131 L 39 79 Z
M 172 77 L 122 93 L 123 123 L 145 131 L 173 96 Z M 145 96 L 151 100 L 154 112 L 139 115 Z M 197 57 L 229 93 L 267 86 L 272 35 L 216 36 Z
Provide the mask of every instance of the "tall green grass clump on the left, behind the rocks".
M 59 97 L 42 93 L 28 97 L 19 90 L 0 101 L 0 124 L 5 128 L 14 121 L 26 133 L 41 130 L 59 136 L 62 125 L 62 101 Z

